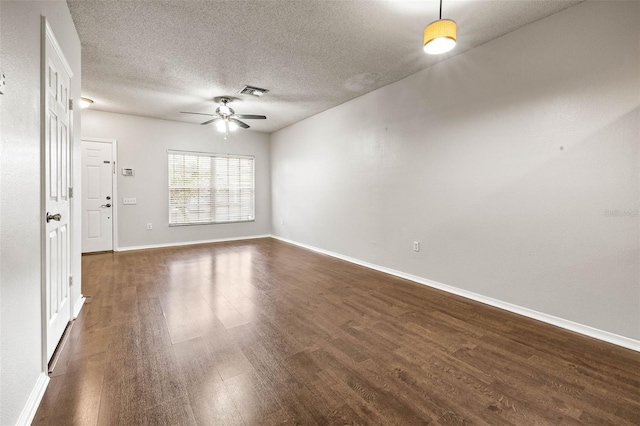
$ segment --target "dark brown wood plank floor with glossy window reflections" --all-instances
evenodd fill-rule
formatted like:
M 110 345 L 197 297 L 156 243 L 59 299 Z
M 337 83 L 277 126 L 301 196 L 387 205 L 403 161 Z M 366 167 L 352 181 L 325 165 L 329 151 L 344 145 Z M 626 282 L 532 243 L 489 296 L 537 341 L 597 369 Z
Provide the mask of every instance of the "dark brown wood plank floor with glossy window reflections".
M 84 256 L 47 425 L 640 423 L 640 354 L 273 239 Z

